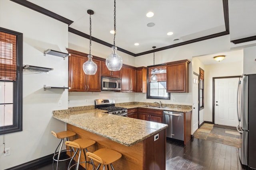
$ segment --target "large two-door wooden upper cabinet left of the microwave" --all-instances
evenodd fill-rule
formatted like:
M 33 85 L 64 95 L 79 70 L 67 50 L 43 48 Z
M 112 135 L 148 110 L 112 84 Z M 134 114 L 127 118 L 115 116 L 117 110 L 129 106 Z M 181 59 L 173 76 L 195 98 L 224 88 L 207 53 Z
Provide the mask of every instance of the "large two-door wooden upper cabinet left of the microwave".
M 68 57 L 68 86 L 70 92 L 100 92 L 101 91 L 101 61 L 94 58 L 92 61 L 97 64 L 97 72 L 94 75 L 86 75 L 83 64 L 87 61 L 87 55 L 78 51 L 67 49 Z

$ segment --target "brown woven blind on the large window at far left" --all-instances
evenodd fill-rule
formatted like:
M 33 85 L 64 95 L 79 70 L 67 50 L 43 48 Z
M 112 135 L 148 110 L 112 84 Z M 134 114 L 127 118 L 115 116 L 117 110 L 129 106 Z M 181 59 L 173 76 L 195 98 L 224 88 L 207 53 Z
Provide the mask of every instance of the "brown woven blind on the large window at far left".
M 16 80 L 16 35 L 0 32 L 0 80 Z

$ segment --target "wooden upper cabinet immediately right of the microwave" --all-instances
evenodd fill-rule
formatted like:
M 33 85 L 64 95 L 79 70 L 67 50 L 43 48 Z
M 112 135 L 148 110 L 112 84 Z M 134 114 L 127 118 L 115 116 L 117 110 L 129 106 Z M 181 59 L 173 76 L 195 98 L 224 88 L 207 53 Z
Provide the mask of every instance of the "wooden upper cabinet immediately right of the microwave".
M 130 66 L 121 68 L 122 90 L 121 92 L 136 91 L 136 69 Z

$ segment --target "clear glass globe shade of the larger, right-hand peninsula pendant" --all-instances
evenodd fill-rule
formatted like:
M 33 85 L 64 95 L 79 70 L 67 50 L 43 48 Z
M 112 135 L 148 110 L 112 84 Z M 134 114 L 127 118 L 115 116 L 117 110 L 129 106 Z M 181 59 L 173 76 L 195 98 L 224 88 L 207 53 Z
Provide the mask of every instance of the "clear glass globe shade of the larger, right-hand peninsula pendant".
M 116 53 L 117 48 L 112 47 L 112 54 L 106 58 L 106 66 L 110 71 L 119 71 L 123 65 L 123 59 Z

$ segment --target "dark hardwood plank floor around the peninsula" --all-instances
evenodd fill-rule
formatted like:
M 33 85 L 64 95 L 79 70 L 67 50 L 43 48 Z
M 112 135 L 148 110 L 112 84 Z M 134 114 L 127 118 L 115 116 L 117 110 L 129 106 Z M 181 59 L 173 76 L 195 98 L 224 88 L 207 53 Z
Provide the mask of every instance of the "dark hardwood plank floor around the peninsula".
M 60 162 L 58 170 L 66 170 L 68 162 Z M 166 141 L 166 170 L 242 170 L 238 148 L 194 138 L 187 145 Z M 56 163 L 33 170 L 56 170 Z M 84 170 L 80 166 L 80 170 Z M 123 170 L 126 170 L 124 168 Z

